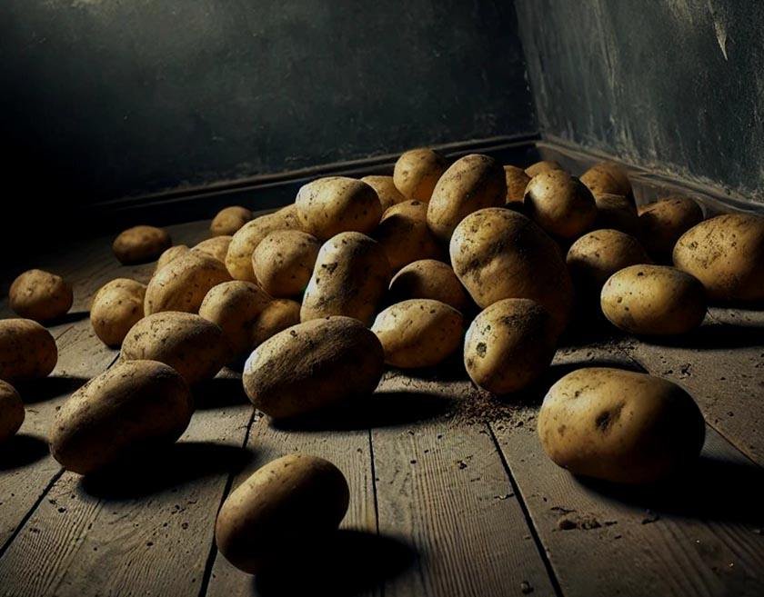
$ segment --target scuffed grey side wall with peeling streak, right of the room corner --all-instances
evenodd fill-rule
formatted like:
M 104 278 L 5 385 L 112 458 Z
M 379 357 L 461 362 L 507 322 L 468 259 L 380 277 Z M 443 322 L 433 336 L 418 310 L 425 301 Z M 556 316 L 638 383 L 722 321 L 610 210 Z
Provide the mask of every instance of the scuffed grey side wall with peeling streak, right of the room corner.
M 544 132 L 764 202 L 764 2 L 516 6 Z

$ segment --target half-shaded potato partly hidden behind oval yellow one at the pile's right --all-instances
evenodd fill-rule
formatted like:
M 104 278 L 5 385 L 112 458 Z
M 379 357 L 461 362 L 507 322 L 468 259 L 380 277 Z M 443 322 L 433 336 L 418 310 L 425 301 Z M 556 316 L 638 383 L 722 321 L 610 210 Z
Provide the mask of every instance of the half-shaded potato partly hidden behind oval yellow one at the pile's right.
M 599 293 L 608 278 L 636 264 L 651 264 L 639 241 L 618 230 L 595 230 L 584 234 L 568 250 L 568 270 L 578 294 L 599 303 Z

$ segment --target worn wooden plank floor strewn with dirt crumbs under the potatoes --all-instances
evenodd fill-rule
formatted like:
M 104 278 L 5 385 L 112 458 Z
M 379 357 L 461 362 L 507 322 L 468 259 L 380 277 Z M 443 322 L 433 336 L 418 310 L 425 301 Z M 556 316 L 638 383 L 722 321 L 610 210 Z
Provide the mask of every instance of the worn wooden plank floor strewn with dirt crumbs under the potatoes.
M 206 225 L 170 231 L 195 244 Z M 110 242 L 39 264 L 75 284 L 75 306 L 51 328 L 55 373 L 20 388 L 26 421 L 0 453 L 0 594 L 764 594 L 764 313 L 712 309 L 682 343 L 604 338 L 558 351 L 547 386 L 611 363 L 695 396 L 708 422 L 702 458 L 659 491 L 576 480 L 538 443 L 544 384 L 499 403 L 458 366 L 389 372 L 362 411 L 298 430 L 256 416 L 224 372 L 200 389 L 174 449 L 84 481 L 48 455 L 46 430 L 66 396 L 117 356 L 91 330 L 89 299 L 110 279 L 147 280 L 153 269 L 120 267 Z M 10 314 L 5 303 L 0 314 Z M 314 561 L 253 579 L 216 552 L 216 512 L 247 474 L 296 450 L 346 474 L 344 530 Z

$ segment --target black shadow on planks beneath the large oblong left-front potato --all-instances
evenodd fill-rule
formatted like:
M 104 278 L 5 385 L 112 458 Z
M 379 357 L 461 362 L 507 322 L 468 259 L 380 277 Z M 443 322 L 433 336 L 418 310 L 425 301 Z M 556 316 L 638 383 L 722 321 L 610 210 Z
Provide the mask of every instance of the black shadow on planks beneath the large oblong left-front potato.
M 131 454 L 103 471 L 80 479 L 80 488 L 96 498 L 128 501 L 147 497 L 205 477 L 236 474 L 252 454 L 245 448 L 210 442 L 181 442 Z

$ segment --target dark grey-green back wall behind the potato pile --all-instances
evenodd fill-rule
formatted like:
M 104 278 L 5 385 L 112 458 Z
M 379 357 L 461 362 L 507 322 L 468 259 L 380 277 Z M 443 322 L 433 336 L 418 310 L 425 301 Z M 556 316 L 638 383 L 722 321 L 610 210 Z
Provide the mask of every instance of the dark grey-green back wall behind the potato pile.
M 501 0 L 3 0 L 0 127 L 54 209 L 537 128 Z

